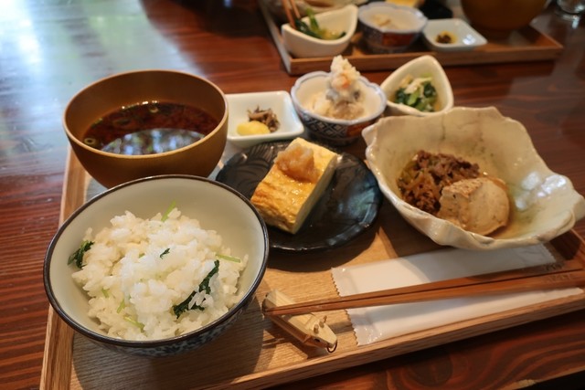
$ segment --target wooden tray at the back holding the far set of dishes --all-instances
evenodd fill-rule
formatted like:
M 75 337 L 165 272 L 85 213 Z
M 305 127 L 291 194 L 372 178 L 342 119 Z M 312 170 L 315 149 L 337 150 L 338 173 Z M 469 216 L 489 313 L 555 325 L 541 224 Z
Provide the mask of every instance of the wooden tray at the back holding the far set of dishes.
M 264 2 L 259 2 L 262 15 L 266 20 L 272 39 L 278 49 L 284 68 L 290 75 L 302 75 L 314 70 L 328 71 L 332 58 L 293 58 L 284 48 L 281 26 Z M 552 37 L 539 32 L 533 26 L 514 31 L 502 40 L 488 39 L 483 47 L 470 51 L 437 52 L 430 50 L 419 39 L 408 51 L 395 54 L 372 54 L 363 47 L 361 34 L 352 37 L 349 47 L 342 55 L 361 71 L 397 69 L 411 59 L 431 55 L 442 66 L 475 65 L 504 62 L 540 61 L 558 58 L 563 47 Z

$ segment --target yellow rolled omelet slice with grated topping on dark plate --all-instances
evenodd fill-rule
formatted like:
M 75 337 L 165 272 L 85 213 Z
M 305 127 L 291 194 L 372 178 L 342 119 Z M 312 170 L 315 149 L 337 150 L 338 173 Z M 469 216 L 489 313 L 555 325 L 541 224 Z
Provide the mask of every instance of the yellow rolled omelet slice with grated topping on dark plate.
M 338 157 L 302 138 L 293 140 L 250 198 L 264 222 L 296 233 L 331 182 Z

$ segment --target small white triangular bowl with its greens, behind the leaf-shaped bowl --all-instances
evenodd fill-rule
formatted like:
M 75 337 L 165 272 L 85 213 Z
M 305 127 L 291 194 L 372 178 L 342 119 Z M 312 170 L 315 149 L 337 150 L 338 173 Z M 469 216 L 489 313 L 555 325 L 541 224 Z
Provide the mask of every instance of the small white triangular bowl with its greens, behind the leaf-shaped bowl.
M 430 116 L 452 109 L 453 91 L 441 64 L 421 56 L 392 72 L 380 88 L 392 115 Z

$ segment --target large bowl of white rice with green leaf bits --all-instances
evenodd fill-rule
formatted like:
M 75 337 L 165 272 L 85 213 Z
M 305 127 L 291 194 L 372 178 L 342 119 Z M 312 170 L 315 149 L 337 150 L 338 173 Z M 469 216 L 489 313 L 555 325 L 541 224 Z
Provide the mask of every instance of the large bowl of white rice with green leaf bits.
M 133 217 L 122 219 L 127 213 Z M 148 221 L 145 230 L 140 219 Z M 193 175 L 151 176 L 96 195 L 69 216 L 48 247 L 45 290 L 58 316 L 94 343 L 135 355 L 184 353 L 238 326 L 261 285 L 268 250 L 261 216 L 237 191 Z M 193 253 L 205 266 L 184 256 Z M 225 283 L 234 264 L 241 265 L 237 282 Z M 81 271 L 90 272 L 89 283 L 74 279 Z M 208 297 L 200 300 L 195 294 L 203 292 Z

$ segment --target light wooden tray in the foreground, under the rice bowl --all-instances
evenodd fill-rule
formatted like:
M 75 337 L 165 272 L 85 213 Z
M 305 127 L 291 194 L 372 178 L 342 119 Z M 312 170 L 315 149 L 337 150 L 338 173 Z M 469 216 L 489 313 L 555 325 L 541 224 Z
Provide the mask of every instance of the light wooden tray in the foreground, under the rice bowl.
M 61 220 L 85 202 L 92 186 L 95 182 L 69 153 Z M 578 258 L 585 264 L 585 242 L 575 232 L 558 237 L 548 247 L 557 258 Z M 262 317 L 261 300 L 269 290 L 283 290 L 295 300 L 335 297 L 333 267 L 436 248 L 384 202 L 375 226 L 343 248 L 302 256 L 271 253 L 250 309 L 213 343 L 176 357 L 147 359 L 106 350 L 73 332 L 49 308 L 40 388 L 266 387 L 585 308 L 583 292 L 359 347 L 346 311 L 325 312 L 327 323 L 338 335 L 335 353 L 304 347 Z

